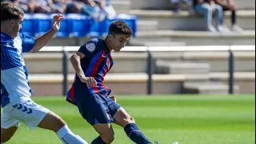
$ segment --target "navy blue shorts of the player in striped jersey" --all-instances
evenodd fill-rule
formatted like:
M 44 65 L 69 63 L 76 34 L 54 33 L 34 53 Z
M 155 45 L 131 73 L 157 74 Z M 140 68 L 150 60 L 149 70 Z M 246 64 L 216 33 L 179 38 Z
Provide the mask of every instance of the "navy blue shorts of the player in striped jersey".
M 91 126 L 98 123 L 114 122 L 114 114 L 121 106 L 114 102 L 106 92 L 88 94 L 85 89 L 74 88 L 74 93 L 78 94 L 79 91 L 79 97 L 82 98 L 75 98 L 77 99 L 75 103 L 82 118 L 85 118 Z M 75 95 L 78 96 L 77 94 Z

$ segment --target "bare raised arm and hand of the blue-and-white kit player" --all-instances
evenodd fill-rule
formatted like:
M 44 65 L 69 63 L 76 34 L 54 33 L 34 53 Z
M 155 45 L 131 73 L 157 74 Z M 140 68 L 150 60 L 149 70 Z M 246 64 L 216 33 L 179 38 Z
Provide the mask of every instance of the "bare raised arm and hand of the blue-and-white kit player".
M 34 47 L 30 50 L 30 53 L 38 52 L 42 49 L 43 46 L 46 45 L 47 42 L 50 41 L 50 38 L 54 37 L 54 34 L 56 34 L 60 28 L 60 21 L 62 21 L 62 19 L 64 19 L 62 15 L 54 15 L 53 27 L 48 32 L 46 32 L 46 34 L 43 34 L 41 37 L 35 40 Z

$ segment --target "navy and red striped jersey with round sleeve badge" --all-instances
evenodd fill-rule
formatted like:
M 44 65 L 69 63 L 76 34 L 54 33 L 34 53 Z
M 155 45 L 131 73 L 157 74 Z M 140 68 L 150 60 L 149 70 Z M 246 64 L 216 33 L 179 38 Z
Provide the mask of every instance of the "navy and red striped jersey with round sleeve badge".
M 111 52 L 107 48 L 104 40 L 100 38 L 91 39 L 83 46 L 81 46 L 78 51 L 86 55 L 85 58 L 81 59 L 81 67 L 84 74 L 86 77 L 93 77 L 98 83 L 96 86 L 88 89 L 86 84 L 82 84 L 77 74 L 75 74 L 74 83 L 80 83 L 81 85 L 84 85 L 82 89 L 88 89 L 88 94 L 95 94 L 104 91 L 106 91 L 107 94 L 110 94 L 111 90 L 104 86 L 103 81 L 104 76 L 113 66 L 113 59 L 111 57 Z M 75 86 L 76 85 L 74 84 L 71 86 L 66 98 L 68 102 L 73 104 L 74 97 L 82 97 L 82 94 L 74 93 L 74 90 L 78 89 Z

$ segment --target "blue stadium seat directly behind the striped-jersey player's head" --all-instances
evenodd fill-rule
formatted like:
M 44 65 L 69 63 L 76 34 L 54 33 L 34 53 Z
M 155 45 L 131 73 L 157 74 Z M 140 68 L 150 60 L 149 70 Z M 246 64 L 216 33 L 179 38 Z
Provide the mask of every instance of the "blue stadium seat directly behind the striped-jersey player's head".
M 104 36 L 106 36 L 106 34 L 109 31 L 110 23 L 113 22 L 113 21 L 116 21 L 116 20 L 122 20 L 122 21 L 126 22 L 128 24 L 128 26 L 130 26 L 130 28 L 134 31 L 133 37 L 136 36 L 136 32 L 137 32 L 137 25 L 136 25 L 137 17 L 134 16 L 134 15 L 127 15 L 127 14 L 118 14 L 115 18 L 106 19 L 102 23 L 102 34 Z

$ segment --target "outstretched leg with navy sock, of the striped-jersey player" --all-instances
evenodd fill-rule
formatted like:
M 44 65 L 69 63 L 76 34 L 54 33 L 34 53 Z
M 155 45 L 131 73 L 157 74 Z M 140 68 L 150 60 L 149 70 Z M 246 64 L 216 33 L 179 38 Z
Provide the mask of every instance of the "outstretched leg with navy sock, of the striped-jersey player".
M 120 107 L 114 114 L 114 123 L 122 126 L 127 134 L 127 136 L 137 144 L 149 144 L 152 143 L 146 136 L 138 129 L 135 124 L 134 118 Z

